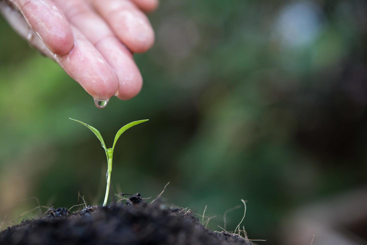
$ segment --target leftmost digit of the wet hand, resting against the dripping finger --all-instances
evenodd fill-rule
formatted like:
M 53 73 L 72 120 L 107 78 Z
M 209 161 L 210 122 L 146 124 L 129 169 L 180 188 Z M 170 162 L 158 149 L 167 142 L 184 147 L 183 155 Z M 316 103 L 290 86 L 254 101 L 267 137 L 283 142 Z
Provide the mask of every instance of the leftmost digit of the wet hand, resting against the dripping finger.
M 62 11 L 50 0 L 15 0 L 16 7 L 54 54 L 64 55 L 74 45 L 73 32 Z

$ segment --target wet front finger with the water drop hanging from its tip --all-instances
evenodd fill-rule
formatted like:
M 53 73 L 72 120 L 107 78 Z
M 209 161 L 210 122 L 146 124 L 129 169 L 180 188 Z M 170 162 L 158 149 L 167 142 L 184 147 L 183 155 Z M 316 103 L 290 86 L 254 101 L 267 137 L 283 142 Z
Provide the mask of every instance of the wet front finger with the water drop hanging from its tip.
M 58 63 L 93 98 L 108 100 L 118 88 L 115 72 L 76 28 L 72 30 L 75 46 L 70 53 L 57 59 Z

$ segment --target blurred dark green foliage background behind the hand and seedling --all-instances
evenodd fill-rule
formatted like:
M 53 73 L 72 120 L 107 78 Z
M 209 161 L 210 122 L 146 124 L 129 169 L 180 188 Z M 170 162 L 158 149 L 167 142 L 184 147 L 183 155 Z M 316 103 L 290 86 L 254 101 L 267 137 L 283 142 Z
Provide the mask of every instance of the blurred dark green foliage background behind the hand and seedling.
M 0 221 L 18 223 L 32 196 L 102 203 L 105 153 L 69 117 L 108 147 L 150 119 L 117 143 L 110 193 L 156 197 L 171 181 L 164 200 L 208 205 L 213 230 L 243 198 L 248 237 L 266 244 L 292 210 L 367 183 L 366 1 L 166 0 L 149 18 L 143 89 L 104 109 L 0 18 Z

